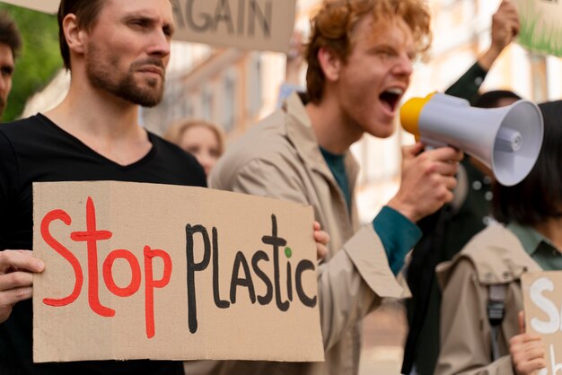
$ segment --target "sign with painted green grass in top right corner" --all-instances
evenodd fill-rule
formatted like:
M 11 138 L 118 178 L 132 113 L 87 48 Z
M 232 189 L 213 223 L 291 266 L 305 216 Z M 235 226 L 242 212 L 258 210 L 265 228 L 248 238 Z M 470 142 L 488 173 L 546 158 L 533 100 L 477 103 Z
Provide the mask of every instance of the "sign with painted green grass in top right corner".
M 515 0 L 521 22 L 519 43 L 536 52 L 562 57 L 562 2 Z

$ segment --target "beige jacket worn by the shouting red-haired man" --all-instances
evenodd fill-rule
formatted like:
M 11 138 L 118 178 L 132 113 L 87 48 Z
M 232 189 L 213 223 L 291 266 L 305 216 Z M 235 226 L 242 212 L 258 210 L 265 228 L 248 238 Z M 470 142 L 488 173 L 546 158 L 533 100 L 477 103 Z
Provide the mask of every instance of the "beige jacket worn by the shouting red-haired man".
M 350 154 L 346 167 L 353 191 L 358 168 Z M 350 218 L 298 95 L 230 146 L 211 173 L 210 187 L 313 206 L 316 220 L 331 236 L 329 255 L 318 272 L 326 362 L 215 362 L 208 363 L 212 370 L 190 372 L 188 367 L 187 373 L 356 375 L 361 320 L 382 297 L 408 292 L 392 275 L 373 226 L 359 228 L 355 206 Z

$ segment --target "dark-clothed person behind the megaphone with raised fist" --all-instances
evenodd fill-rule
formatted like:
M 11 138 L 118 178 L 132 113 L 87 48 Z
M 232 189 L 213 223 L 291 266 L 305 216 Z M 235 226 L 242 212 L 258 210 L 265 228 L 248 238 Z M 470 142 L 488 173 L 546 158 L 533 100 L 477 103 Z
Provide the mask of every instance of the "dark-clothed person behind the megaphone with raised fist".
M 477 62 L 445 91 L 470 100 L 483 108 L 501 107 L 520 99 L 514 92 L 496 91 L 479 96 L 497 57 L 511 43 L 520 28 L 517 9 L 504 0 L 492 16 L 491 44 Z M 405 343 L 403 374 L 432 375 L 439 353 L 440 292 L 435 281 L 435 266 L 450 260 L 470 238 L 489 222 L 491 174 L 483 165 L 466 157 L 461 161 L 460 187 L 452 203 L 418 223 L 424 236 L 412 252 L 406 270 L 412 298 L 406 301 L 408 337 Z

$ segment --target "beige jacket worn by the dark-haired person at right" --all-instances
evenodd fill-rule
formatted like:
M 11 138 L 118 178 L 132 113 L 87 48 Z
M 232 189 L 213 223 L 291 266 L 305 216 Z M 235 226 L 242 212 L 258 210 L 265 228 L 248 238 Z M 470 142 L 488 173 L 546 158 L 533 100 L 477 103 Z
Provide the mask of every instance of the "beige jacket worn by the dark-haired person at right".
M 435 374 L 513 374 L 509 339 L 519 334 L 522 310 L 520 278 L 540 271 L 515 235 L 496 224 L 477 234 L 450 262 L 437 266 L 443 290 L 441 353 Z M 488 286 L 505 284 L 505 317 L 498 344 L 501 358 L 492 362 L 487 315 Z

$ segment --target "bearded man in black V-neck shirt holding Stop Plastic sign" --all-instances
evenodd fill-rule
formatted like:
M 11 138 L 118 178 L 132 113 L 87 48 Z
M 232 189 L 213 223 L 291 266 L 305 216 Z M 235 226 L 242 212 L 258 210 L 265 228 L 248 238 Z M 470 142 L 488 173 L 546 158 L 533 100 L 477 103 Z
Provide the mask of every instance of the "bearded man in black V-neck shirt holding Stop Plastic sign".
M 32 182 L 206 185 L 193 157 L 138 126 L 138 105 L 162 99 L 170 0 L 62 0 L 58 23 L 68 95 L 0 127 L 0 374 L 183 374 L 181 362 L 32 362 L 32 274 L 45 268 L 29 250 Z

